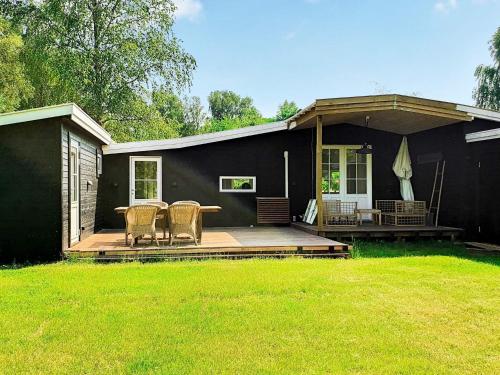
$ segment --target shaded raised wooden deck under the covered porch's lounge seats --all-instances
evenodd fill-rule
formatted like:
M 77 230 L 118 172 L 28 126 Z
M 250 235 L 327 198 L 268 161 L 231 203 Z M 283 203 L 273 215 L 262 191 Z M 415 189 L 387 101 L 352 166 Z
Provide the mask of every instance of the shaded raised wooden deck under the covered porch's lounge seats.
M 463 232 L 463 229 L 453 227 L 434 226 L 394 226 L 375 225 L 363 223 L 357 226 L 330 226 L 323 231 L 318 231 L 316 225 L 306 223 L 292 223 L 292 227 L 327 238 L 342 239 L 354 238 L 445 238 L 455 240 Z

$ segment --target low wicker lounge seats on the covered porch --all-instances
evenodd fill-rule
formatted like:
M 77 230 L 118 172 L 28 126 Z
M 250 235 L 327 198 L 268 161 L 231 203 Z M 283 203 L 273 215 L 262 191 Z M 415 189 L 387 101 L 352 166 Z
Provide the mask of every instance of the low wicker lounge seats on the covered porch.
M 363 216 L 371 215 L 376 225 L 423 226 L 425 201 L 377 200 L 374 209 L 358 208 L 357 202 L 324 201 L 325 225 L 356 226 L 363 224 Z

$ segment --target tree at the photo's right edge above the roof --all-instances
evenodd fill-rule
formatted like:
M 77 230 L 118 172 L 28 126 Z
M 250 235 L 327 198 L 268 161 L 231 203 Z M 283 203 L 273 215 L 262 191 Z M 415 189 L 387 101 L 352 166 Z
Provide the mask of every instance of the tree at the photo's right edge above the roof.
M 474 76 L 477 88 L 474 99 L 479 107 L 500 110 L 500 27 L 490 41 L 490 52 L 493 65 L 479 65 Z

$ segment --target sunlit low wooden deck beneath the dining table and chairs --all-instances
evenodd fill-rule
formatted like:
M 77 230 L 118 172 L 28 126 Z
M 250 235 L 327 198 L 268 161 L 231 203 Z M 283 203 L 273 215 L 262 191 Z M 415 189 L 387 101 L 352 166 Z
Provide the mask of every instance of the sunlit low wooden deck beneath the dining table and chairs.
M 290 227 L 208 228 L 201 244 L 162 240 L 160 247 L 140 241 L 133 249 L 125 245 L 123 230 L 102 230 L 73 247 L 65 254 L 71 257 L 114 258 L 243 258 L 252 256 L 348 257 L 346 244 Z

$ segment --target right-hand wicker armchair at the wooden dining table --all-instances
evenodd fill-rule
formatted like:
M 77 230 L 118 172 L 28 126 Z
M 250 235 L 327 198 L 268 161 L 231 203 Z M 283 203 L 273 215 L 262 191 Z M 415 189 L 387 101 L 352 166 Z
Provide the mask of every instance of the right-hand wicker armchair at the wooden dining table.
M 198 216 L 200 215 L 200 204 L 195 201 L 179 201 L 168 207 L 169 217 L 169 243 L 172 245 L 174 238 L 181 234 L 187 234 L 198 245 Z

